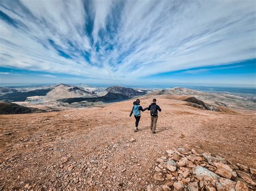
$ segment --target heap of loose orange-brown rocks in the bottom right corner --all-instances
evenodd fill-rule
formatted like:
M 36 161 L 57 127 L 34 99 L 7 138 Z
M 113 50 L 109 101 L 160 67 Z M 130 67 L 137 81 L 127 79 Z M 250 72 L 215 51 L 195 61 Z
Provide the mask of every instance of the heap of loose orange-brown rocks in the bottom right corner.
M 255 190 L 256 169 L 210 153 L 183 147 L 166 150 L 156 160 L 154 180 L 147 190 Z

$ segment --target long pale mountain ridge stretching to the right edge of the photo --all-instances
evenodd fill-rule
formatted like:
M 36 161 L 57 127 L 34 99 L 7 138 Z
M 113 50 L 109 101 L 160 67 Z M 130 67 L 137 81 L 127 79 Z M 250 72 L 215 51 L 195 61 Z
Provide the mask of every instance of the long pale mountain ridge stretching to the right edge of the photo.
M 246 97 L 226 93 L 206 93 L 203 91 L 196 91 L 182 87 L 158 90 L 150 93 L 149 95 L 187 95 L 196 97 L 198 100 L 205 101 L 215 106 L 219 105 L 222 107 L 231 107 L 238 109 L 246 108 L 251 110 L 256 109 L 256 102 Z

